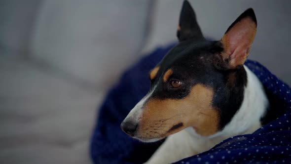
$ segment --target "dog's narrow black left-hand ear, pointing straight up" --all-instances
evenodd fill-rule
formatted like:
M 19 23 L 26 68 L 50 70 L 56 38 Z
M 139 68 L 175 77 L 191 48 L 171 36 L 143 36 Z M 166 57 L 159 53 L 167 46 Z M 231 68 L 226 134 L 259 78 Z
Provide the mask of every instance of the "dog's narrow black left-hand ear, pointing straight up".
M 189 39 L 204 39 L 201 30 L 196 21 L 196 15 L 193 8 L 187 0 L 184 0 L 180 13 L 180 20 L 177 30 L 179 41 Z

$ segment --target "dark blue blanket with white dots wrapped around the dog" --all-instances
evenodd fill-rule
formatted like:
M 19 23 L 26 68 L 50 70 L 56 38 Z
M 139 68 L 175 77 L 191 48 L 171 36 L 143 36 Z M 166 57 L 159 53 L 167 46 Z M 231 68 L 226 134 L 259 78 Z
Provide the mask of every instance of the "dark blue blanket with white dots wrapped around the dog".
M 142 143 L 127 136 L 120 123 L 146 95 L 148 72 L 172 47 L 157 48 L 126 71 L 101 106 L 94 129 L 90 155 L 95 164 L 141 164 L 162 142 Z M 253 134 L 228 138 L 211 150 L 183 159 L 177 164 L 291 163 L 291 89 L 255 61 L 245 63 L 263 85 L 282 100 L 285 114 Z

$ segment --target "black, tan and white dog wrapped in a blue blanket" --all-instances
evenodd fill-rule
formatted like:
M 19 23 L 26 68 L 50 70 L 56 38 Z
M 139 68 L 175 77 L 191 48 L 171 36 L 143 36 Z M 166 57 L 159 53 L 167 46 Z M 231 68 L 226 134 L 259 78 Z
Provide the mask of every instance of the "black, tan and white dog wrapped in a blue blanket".
M 205 152 L 282 114 L 271 108 L 269 94 L 244 66 L 256 26 L 249 8 L 220 41 L 208 41 L 190 3 L 183 2 L 179 43 L 150 71 L 149 92 L 120 125 L 143 142 L 167 137 L 147 164 L 173 163 Z

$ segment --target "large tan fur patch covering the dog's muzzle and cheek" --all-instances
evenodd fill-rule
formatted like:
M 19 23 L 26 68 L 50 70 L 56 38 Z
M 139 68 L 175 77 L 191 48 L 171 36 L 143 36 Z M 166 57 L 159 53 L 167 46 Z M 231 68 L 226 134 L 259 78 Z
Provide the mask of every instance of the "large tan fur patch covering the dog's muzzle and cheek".
M 183 99 L 149 100 L 139 120 L 137 137 L 164 138 L 189 126 L 202 136 L 216 133 L 219 116 L 212 99 L 213 89 L 196 84 Z

